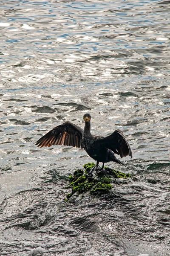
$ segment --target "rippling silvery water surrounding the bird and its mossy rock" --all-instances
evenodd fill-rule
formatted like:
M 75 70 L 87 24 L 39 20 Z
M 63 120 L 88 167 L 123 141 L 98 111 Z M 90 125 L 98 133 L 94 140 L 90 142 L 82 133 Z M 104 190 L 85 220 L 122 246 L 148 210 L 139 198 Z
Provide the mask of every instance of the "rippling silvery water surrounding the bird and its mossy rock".
M 1 1 L 0 255 L 170 254 L 169 1 Z M 63 120 L 119 128 L 136 180 L 74 198 L 85 151 L 35 142 Z

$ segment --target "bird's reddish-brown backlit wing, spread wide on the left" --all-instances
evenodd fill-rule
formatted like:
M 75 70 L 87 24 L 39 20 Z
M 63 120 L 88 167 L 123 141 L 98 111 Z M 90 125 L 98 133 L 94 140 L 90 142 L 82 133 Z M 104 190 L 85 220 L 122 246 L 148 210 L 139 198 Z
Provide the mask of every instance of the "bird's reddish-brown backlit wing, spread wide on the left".
M 38 147 L 51 147 L 52 145 L 67 145 L 82 148 L 82 129 L 71 122 L 58 125 L 42 136 L 35 145 Z

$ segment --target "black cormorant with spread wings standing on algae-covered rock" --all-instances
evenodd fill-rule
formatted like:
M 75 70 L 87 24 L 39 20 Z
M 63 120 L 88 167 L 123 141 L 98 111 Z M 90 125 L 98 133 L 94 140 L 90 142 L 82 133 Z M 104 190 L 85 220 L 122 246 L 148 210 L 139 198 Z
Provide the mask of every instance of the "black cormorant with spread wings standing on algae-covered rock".
M 85 121 L 84 131 L 77 125 L 71 122 L 64 122 L 58 125 L 42 136 L 35 145 L 38 147 L 51 147 L 52 145 L 67 145 L 77 148 L 84 148 L 90 157 L 97 161 L 95 168 L 99 167 L 99 162 L 102 162 L 102 170 L 104 164 L 110 161 L 122 164 L 114 155 L 118 154 L 120 157 L 132 157 L 130 145 L 125 139 L 120 130 L 114 131 L 109 136 L 95 136 L 91 134 L 91 115 L 85 114 L 83 116 Z

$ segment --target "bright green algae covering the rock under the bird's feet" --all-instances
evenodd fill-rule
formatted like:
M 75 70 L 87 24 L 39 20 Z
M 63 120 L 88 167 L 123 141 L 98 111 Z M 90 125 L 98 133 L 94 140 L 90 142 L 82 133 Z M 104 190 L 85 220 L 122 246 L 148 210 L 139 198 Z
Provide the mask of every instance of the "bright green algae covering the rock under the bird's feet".
M 95 163 L 87 163 L 83 169 L 78 169 L 74 172 L 74 175 L 69 176 L 70 186 L 72 187 L 72 194 L 67 195 L 67 199 L 71 198 L 75 192 L 82 194 L 90 192 L 91 195 L 108 194 L 111 192 L 113 179 L 130 177 L 125 173 L 116 171 L 114 169 L 105 167 L 100 173 L 93 172 L 93 176 L 89 177 L 88 173 L 95 166 Z

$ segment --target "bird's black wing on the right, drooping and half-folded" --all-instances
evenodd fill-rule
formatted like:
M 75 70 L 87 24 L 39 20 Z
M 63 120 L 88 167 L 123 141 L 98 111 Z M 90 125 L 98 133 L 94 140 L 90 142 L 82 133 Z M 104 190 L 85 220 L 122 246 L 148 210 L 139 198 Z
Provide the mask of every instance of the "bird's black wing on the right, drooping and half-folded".
M 113 134 L 101 138 L 100 141 L 103 146 L 110 148 L 115 154 L 119 154 L 121 158 L 126 156 L 132 157 L 130 145 L 122 131 L 115 130 Z

